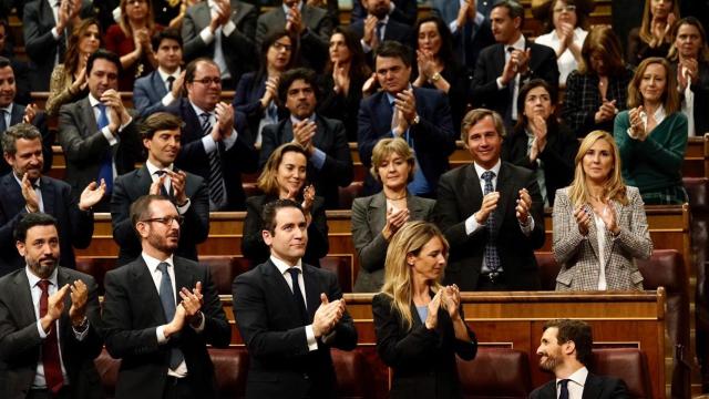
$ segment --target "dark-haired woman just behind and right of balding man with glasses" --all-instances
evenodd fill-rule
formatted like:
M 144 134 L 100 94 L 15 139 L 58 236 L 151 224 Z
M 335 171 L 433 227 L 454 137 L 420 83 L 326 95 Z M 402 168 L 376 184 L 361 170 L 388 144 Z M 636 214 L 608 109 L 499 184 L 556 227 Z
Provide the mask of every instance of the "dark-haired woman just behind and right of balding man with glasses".
M 265 125 L 278 123 L 287 112 L 278 106 L 278 80 L 280 74 L 294 66 L 298 59 L 298 41 L 280 30 L 261 42 L 260 66 L 256 72 L 242 75 L 236 85 L 234 109 L 246 114 L 248 127 L 255 143 L 261 142 Z

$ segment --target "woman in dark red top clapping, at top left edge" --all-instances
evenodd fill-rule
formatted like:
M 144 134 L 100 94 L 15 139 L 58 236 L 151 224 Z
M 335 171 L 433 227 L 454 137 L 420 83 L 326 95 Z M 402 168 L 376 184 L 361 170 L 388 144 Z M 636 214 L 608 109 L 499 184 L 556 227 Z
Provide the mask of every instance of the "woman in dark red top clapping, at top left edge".
M 151 38 L 163 27 L 154 22 L 148 0 L 121 0 L 120 7 L 121 20 L 106 31 L 105 47 L 121 57 L 119 90 L 132 92 L 137 78 L 157 68 Z

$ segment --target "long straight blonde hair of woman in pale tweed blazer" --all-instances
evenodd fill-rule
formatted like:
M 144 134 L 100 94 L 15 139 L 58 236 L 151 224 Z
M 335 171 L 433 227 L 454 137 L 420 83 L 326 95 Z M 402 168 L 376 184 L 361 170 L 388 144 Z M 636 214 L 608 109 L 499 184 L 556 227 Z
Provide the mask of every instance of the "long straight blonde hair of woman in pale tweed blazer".
M 574 172 L 574 181 L 568 187 L 568 197 L 574 207 L 579 204 L 585 204 L 590 201 L 590 191 L 586 183 L 586 172 L 584 171 L 584 156 L 590 150 L 590 147 L 599 140 L 605 141 L 610 145 L 610 152 L 613 155 L 613 168 L 603 184 L 603 197 L 615 200 L 623 205 L 628 204 L 628 196 L 625 188 L 625 182 L 620 174 L 620 156 L 618 154 L 618 145 L 608 132 L 593 131 L 584 137 L 576 153 L 576 170 Z

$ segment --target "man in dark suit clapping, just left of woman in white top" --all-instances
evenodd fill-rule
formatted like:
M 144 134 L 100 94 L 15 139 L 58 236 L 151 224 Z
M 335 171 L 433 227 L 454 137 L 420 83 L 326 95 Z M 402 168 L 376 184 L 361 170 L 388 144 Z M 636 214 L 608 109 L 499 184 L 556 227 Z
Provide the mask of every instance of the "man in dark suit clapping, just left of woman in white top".
M 475 108 L 497 112 L 512 127 L 517 121 L 517 94 L 525 82 L 540 78 L 552 88 L 558 86 L 556 53 L 522 34 L 524 8 L 516 1 L 495 3 L 490 19 L 497 44 L 485 48 L 477 57 L 471 101 Z

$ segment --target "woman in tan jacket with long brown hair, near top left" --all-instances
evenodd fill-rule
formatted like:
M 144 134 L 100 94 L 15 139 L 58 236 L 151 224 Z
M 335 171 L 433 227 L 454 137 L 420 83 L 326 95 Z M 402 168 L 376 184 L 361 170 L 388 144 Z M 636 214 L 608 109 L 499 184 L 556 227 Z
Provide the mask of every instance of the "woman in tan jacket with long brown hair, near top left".
M 101 28 L 94 18 L 86 18 L 74 28 L 69 37 L 64 63 L 52 71 L 47 99 L 47 114 L 54 116 L 68 103 L 86 96 L 86 60 L 101 48 Z

